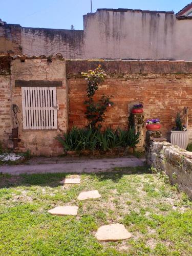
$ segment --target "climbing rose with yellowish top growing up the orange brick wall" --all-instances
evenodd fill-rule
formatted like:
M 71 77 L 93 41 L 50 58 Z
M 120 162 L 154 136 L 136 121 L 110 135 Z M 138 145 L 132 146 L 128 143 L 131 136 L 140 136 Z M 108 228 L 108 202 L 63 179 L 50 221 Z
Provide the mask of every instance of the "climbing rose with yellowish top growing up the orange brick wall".
M 88 100 L 84 101 L 86 105 L 86 118 L 89 121 L 89 126 L 92 128 L 101 127 L 101 122 L 104 121 L 104 115 L 106 110 L 114 105 L 111 101 L 112 96 L 103 95 L 97 102 L 94 101 L 94 95 L 104 82 L 106 74 L 101 68 L 101 65 L 94 70 L 89 70 L 88 73 L 82 72 L 81 75 L 86 77 L 87 81 L 87 97 Z

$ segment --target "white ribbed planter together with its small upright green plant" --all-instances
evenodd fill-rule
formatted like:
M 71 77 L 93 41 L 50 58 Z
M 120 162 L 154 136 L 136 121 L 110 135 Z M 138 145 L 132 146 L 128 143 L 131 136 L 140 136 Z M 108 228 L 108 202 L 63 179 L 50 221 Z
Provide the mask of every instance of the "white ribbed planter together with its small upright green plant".
M 170 142 L 186 150 L 189 142 L 189 134 L 185 125 L 182 124 L 180 114 L 175 119 L 176 127 L 173 127 L 170 135 Z

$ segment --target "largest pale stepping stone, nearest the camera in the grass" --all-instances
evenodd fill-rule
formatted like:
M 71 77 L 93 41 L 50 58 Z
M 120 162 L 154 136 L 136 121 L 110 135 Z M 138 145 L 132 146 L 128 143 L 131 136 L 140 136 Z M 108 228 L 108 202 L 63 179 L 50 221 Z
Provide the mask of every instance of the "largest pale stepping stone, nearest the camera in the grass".
M 99 241 L 118 241 L 131 238 L 132 234 L 122 224 L 111 224 L 101 226 L 95 237 Z

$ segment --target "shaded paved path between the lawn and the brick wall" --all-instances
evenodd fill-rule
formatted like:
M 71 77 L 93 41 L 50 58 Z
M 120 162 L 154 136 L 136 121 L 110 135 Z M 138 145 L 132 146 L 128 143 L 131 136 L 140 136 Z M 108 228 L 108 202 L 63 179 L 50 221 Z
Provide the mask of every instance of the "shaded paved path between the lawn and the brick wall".
M 96 173 L 110 170 L 114 167 L 142 166 L 144 159 L 136 157 L 118 158 L 34 158 L 28 164 L 6 165 L 0 167 L 0 172 L 18 175 L 35 173 Z

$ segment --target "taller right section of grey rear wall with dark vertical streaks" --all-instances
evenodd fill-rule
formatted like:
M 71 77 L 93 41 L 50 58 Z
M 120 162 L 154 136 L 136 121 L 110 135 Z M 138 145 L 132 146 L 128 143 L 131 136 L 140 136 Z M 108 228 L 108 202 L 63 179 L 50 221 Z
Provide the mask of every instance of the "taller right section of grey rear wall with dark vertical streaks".
M 84 15 L 85 57 L 191 60 L 191 23 L 172 12 L 100 9 Z

